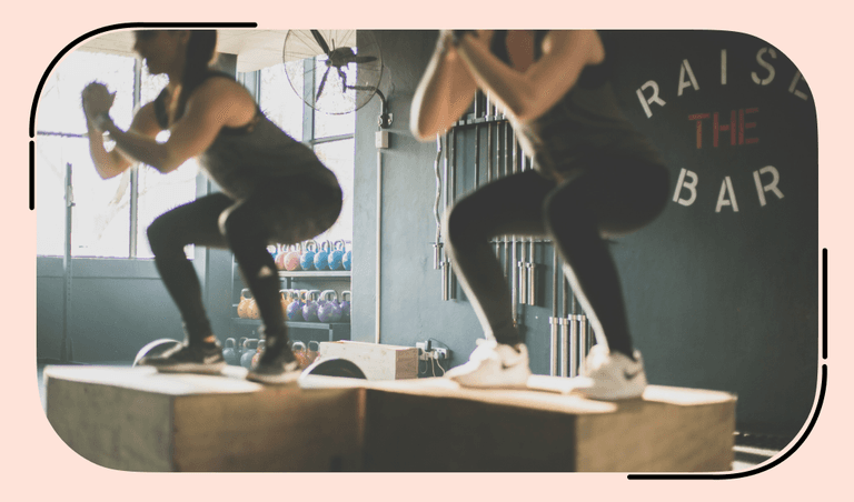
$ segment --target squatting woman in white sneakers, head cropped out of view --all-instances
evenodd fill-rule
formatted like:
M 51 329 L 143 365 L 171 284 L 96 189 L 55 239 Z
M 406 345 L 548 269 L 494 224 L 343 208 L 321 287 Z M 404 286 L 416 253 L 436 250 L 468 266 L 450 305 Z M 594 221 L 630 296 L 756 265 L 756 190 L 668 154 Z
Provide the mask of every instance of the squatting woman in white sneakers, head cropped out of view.
M 640 395 L 640 353 L 628 332 L 619 280 L 604 238 L 662 212 L 668 173 L 620 113 L 595 31 L 443 31 L 413 102 L 411 129 L 435 139 L 465 113 L 477 89 L 506 112 L 534 169 L 496 180 L 446 214 L 450 259 L 486 333 L 469 362 L 447 375 L 468 386 L 522 386 L 528 353 L 510 293 L 489 247 L 504 235 L 553 240 L 564 273 L 597 335 L 577 390 L 594 399 Z M 602 340 L 600 339 L 600 340 Z

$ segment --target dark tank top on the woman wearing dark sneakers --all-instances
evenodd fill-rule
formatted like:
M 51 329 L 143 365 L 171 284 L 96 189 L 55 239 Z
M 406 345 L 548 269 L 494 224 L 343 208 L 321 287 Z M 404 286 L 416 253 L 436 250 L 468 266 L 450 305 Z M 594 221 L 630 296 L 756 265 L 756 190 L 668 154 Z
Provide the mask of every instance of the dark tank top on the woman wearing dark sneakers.
M 208 78 L 234 80 L 218 71 L 210 71 Z M 168 99 L 166 88 L 155 99 L 155 116 L 163 129 L 169 128 Z M 224 193 L 236 200 L 248 198 L 272 180 L 298 174 L 338 187 L 335 174 L 315 152 L 272 123 L 257 106 L 255 118 L 248 124 L 220 130 L 214 143 L 199 155 L 199 164 Z

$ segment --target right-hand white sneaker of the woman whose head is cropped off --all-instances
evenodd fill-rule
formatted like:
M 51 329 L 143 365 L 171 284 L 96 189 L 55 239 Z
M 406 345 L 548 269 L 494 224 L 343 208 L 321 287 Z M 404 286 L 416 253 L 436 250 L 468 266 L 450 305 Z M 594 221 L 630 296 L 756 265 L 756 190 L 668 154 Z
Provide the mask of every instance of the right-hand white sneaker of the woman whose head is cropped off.
M 604 401 L 639 398 L 646 389 L 646 373 L 640 352 L 636 350 L 634 357 L 633 361 L 619 352 L 610 353 L 605 345 L 594 345 L 574 392 Z

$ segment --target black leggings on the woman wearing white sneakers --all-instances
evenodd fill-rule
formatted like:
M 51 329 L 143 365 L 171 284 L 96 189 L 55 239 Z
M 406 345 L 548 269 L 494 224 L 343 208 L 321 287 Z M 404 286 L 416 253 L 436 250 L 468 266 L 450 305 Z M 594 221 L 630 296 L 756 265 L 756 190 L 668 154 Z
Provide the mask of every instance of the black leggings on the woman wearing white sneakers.
M 667 170 L 635 159 L 602 159 L 559 184 L 530 170 L 496 180 L 457 202 L 446 217 L 457 278 L 488 337 L 518 343 L 507 281 L 489 244 L 498 235 L 549 238 L 597 335 L 632 355 L 614 261 L 603 238 L 633 232 L 664 209 Z

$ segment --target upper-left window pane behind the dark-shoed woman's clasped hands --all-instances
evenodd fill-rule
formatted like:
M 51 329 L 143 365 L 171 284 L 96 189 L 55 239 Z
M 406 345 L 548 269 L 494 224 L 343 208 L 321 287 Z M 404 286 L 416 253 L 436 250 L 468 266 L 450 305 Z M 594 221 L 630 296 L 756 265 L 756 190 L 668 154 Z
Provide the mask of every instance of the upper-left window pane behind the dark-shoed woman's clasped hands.
M 116 92 L 110 111 L 116 124 L 130 127 L 133 111 L 133 58 L 75 51 L 64 58 L 44 83 L 38 107 L 39 131 L 86 132 L 80 93 L 92 81 Z

